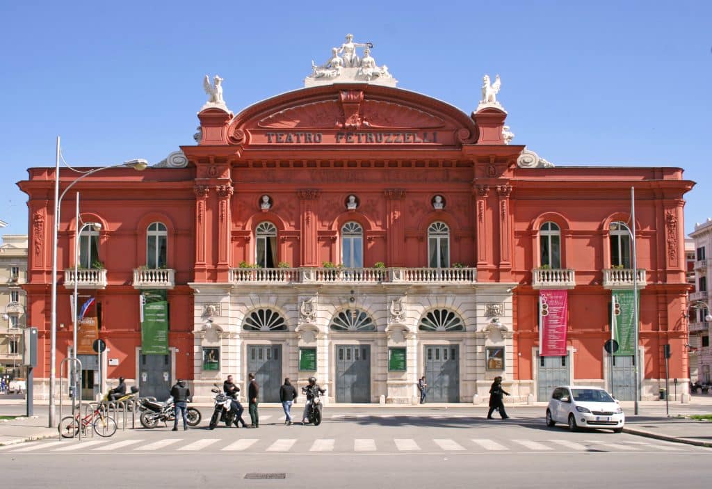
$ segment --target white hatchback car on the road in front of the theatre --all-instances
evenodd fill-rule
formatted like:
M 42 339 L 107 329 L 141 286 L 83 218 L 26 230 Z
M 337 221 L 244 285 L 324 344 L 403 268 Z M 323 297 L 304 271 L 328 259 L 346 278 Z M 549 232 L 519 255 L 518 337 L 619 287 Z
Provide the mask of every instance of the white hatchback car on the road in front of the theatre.
M 554 389 L 546 408 L 546 424 L 578 428 L 610 428 L 623 431 L 625 414 L 609 394 L 598 387 L 562 386 Z

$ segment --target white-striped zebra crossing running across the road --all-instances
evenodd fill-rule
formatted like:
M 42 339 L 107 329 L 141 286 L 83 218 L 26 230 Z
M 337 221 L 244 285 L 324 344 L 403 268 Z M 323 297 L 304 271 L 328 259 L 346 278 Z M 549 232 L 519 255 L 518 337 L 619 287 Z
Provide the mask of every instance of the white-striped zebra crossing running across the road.
M 711 448 L 668 441 L 632 441 L 606 438 L 571 441 L 567 439 L 491 438 L 163 438 L 158 441 L 34 441 L 0 447 L 4 453 L 149 453 L 149 452 L 248 452 L 248 453 L 672 453 L 706 452 Z

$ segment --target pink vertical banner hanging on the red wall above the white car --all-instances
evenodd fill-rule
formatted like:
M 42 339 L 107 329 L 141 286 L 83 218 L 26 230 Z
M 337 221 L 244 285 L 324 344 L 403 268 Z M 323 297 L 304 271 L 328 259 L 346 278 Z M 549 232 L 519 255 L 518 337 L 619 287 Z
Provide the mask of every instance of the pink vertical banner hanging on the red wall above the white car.
M 567 290 L 539 291 L 539 355 L 566 354 Z

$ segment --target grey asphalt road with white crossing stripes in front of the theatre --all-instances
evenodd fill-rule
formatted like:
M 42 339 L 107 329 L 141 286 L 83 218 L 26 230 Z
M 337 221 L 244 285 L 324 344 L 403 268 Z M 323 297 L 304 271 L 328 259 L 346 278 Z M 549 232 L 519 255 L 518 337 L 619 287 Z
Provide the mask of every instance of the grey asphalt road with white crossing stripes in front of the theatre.
M 203 409 L 201 426 L 189 431 L 127 429 L 3 447 L 0 470 L 3 485 L 22 488 L 708 487 L 709 448 L 547 428 L 540 410 L 511 409 L 508 421 L 479 411 L 328 409 L 321 426 L 284 426 L 281 411 L 263 409 L 260 428 L 210 431 Z

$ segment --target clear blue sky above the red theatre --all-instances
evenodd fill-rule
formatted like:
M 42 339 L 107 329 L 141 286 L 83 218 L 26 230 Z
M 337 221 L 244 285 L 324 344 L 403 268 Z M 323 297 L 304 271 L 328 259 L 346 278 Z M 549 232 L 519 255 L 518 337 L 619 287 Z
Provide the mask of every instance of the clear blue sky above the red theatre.
M 557 165 L 674 166 L 712 216 L 712 2 L 0 2 L 0 233 L 28 167 L 159 162 L 193 144 L 202 78 L 233 112 L 300 88 L 346 33 L 399 87 L 470 113 L 485 73 L 515 144 Z

